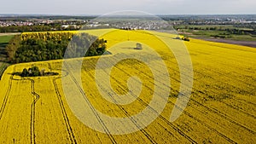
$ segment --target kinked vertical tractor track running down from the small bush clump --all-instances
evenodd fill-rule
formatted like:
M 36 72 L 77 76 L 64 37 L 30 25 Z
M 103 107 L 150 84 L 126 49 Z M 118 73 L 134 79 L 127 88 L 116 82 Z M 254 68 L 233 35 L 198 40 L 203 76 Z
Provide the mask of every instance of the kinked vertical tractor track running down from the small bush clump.
M 31 144 L 35 144 L 36 143 L 36 135 L 35 135 L 35 115 L 36 115 L 36 103 L 40 98 L 40 95 L 38 95 L 35 92 L 35 81 L 33 79 L 28 78 L 27 80 L 31 81 L 31 89 L 32 89 L 32 95 L 33 95 L 33 102 L 31 105 L 31 125 L 30 125 L 30 129 L 31 129 Z

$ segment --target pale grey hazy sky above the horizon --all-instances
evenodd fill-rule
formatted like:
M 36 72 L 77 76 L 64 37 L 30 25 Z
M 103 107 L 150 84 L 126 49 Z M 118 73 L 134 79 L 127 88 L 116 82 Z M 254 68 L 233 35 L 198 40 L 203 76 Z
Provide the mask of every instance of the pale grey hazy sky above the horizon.
M 0 14 L 256 14 L 256 0 L 3 0 Z

